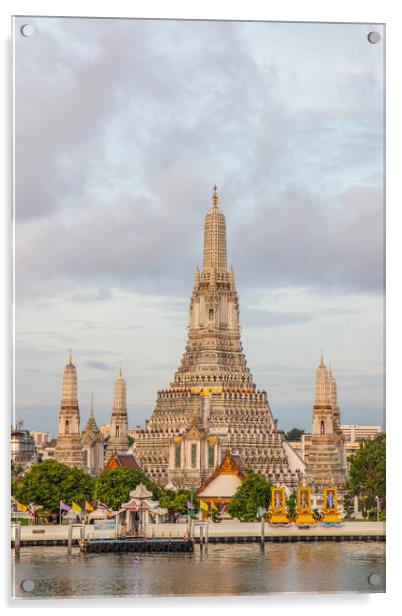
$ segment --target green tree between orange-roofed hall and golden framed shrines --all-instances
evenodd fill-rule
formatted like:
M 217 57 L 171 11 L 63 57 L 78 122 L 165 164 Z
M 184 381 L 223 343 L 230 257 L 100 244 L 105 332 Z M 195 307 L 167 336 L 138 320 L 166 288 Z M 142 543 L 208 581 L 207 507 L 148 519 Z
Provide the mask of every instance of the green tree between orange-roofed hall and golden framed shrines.
M 271 501 L 271 483 L 259 473 L 248 470 L 228 507 L 229 515 L 242 522 L 257 519 L 257 509 L 268 509 Z

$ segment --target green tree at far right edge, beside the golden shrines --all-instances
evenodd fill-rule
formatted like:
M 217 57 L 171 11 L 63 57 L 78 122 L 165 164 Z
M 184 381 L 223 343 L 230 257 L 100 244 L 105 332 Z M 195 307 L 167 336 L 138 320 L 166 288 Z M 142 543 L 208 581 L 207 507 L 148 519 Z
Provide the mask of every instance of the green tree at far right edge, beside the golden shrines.
M 359 496 L 366 510 L 376 507 L 375 497 L 385 509 L 385 434 L 374 439 L 360 441 L 360 447 L 349 457 L 349 479 L 346 490 L 351 496 Z

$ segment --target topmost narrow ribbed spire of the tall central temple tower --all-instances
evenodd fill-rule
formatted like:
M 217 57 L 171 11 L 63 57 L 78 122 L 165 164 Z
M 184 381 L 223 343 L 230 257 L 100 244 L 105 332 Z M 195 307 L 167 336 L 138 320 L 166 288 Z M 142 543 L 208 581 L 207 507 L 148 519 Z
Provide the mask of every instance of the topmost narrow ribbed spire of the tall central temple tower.
M 203 271 L 227 272 L 226 263 L 226 223 L 218 207 L 216 186 L 212 194 L 212 207 L 205 217 Z

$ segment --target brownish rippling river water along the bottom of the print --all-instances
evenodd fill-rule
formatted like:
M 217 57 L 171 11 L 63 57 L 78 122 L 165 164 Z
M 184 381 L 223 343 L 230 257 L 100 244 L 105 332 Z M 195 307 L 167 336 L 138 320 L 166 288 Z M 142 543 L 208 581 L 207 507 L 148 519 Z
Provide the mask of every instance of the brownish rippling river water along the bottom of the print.
M 71 556 L 65 547 L 23 547 L 13 563 L 12 594 L 27 599 L 385 591 L 380 542 L 266 543 L 263 551 L 254 543 L 210 544 L 189 554 L 75 548 Z

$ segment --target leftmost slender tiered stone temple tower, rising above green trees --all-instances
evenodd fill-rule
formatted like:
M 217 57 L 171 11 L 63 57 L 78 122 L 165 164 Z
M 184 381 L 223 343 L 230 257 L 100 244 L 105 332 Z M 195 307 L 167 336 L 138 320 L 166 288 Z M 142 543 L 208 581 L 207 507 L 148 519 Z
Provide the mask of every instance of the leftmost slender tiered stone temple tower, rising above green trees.
M 71 351 L 63 375 L 63 396 L 59 415 L 59 429 L 55 459 L 68 466 L 84 468 L 81 447 L 80 411 L 77 400 L 77 371 L 72 362 Z

